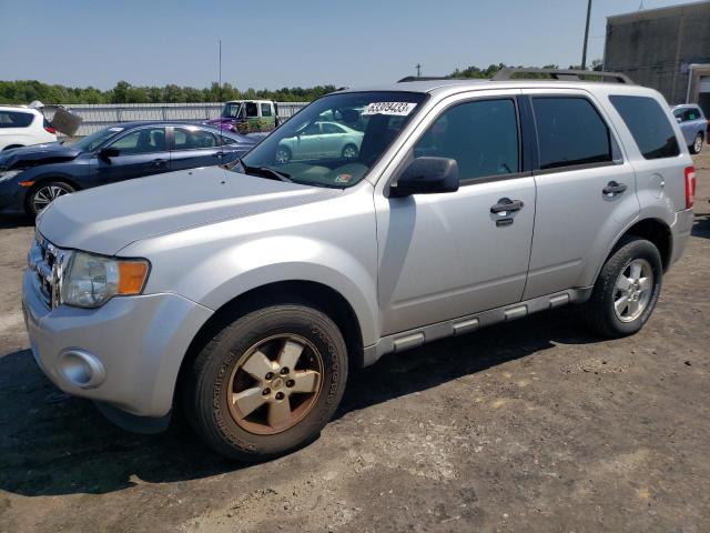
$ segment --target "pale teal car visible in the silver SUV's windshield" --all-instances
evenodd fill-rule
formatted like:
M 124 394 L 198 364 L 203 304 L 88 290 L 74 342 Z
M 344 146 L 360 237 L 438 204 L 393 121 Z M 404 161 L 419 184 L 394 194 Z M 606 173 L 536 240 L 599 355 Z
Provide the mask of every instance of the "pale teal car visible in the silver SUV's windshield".
M 314 159 L 355 160 L 359 155 L 362 142 L 362 131 L 339 122 L 311 122 L 295 137 L 283 139 L 274 159 L 278 164 Z

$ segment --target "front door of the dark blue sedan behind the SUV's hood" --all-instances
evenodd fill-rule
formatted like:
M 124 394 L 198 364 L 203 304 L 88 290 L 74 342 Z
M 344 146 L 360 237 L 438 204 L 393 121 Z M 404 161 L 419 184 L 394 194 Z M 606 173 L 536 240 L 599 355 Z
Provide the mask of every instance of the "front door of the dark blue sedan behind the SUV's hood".
M 102 184 L 170 170 L 170 151 L 163 127 L 131 130 L 105 148 L 114 148 L 119 154 L 110 159 L 97 158 L 97 175 Z

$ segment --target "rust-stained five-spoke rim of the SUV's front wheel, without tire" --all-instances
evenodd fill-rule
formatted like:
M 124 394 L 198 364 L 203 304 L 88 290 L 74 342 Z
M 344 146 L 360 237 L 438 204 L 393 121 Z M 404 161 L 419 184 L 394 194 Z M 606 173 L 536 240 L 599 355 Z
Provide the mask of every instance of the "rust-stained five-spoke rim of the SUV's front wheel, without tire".
M 270 435 L 301 422 L 316 403 L 323 358 L 295 334 L 270 336 L 247 350 L 234 366 L 227 404 L 245 431 Z

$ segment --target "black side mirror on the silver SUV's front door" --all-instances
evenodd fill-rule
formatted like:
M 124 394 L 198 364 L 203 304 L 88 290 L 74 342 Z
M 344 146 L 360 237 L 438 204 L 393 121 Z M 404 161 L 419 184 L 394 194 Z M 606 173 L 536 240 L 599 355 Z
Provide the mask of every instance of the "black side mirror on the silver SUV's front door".
M 458 191 L 458 163 L 448 158 L 417 158 L 389 189 L 395 198 Z

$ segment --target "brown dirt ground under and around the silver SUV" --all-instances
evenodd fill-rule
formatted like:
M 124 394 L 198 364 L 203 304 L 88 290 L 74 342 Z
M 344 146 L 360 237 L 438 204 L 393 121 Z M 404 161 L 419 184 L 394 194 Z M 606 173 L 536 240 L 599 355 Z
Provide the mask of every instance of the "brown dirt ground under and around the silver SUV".
M 240 466 L 184 426 L 123 432 L 42 376 L 0 228 L 0 532 L 710 531 L 710 147 L 688 251 L 636 336 L 569 310 L 356 375 L 306 449 Z

